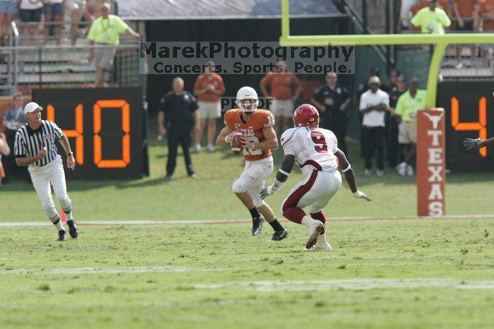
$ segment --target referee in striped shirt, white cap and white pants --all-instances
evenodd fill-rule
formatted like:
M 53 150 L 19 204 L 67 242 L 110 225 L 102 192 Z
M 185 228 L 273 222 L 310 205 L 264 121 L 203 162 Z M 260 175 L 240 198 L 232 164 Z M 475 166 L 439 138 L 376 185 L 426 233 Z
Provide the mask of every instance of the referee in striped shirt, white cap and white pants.
M 42 107 L 35 102 L 28 103 L 24 108 L 28 124 L 20 128 L 16 133 L 14 154 L 16 163 L 20 166 L 29 166 L 32 184 L 35 186 L 37 196 L 43 205 L 44 213 L 49 220 L 59 229 L 59 241 L 66 240 L 64 225 L 56 212 L 52 198 L 52 189 L 59 200 L 61 208 L 66 213 L 68 232 L 71 237 L 78 236 L 76 222 L 72 217 L 72 201 L 68 198 L 64 164 L 56 150 L 55 138 L 67 153 L 67 167 L 76 168 L 76 160 L 71 151 L 71 145 L 67 137 L 52 121 L 42 120 Z

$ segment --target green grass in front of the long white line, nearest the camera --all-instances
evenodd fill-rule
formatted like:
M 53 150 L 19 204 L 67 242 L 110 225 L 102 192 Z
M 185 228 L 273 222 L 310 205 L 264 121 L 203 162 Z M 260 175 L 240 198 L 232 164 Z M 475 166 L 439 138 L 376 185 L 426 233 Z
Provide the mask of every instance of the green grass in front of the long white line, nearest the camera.
M 327 227 L 0 229 L 0 327 L 492 328 L 494 219 Z

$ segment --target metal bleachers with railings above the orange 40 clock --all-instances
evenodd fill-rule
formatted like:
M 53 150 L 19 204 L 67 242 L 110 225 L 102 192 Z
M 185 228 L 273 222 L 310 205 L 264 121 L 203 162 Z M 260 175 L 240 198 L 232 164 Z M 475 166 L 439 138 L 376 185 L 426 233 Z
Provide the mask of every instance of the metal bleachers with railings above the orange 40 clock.
M 87 43 L 86 38 L 80 38 L 82 44 L 76 46 L 62 45 L 21 45 L 23 40 L 30 38 L 19 33 L 19 28 L 25 25 L 37 25 L 40 30 L 47 25 L 69 25 L 71 22 L 40 22 L 40 23 L 11 23 L 10 41 L 8 47 L 1 47 L 1 52 L 8 54 L 6 71 L 8 83 L 0 86 L 0 89 L 9 93 L 16 92 L 19 85 L 37 85 L 39 88 L 44 88 L 48 84 L 60 85 L 65 84 L 87 84 L 94 82 L 95 67 L 92 66 L 89 60 L 91 49 L 112 48 L 116 49 L 116 60 L 114 61 L 114 70 L 111 75 L 110 83 L 115 83 L 122 76 L 126 85 L 133 83 L 129 76 L 138 77 L 138 51 L 139 46 L 135 40 L 132 43 L 123 35 L 121 44 L 119 45 L 103 45 L 103 44 L 83 44 Z M 90 23 L 85 22 L 85 25 Z M 79 36 L 82 34 L 79 33 Z M 55 36 L 57 38 L 58 36 Z M 66 35 L 61 35 L 66 38 Z M 45 39 L 44 35 L 37 37 L 37 40 Z M 53 40 L 53 37 L 50 39 Z M 120 56 L 122 59 L 120 59 Z M 135 64 L 134 59 L 135 58 Z M 125 65 L 119 66 L 119 63 Z M 123 67 L 125 66 L 125 67 Z M 28 69 L 25 69 L 28 68 Z M 128 72 L 127 72 L 128 71 Z M 32 78 L 31 76 L 35 76 Z M 125 78 L 127 77 L 127 78 Z M 137 78 L 138 80 L 138 78 Z

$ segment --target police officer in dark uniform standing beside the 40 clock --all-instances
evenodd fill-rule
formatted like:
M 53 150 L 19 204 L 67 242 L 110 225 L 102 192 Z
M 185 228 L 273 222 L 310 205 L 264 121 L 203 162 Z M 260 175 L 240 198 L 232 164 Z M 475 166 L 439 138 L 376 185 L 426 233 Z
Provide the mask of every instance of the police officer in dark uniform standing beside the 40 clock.
M 172 87 L 173 90 L 162 97 L 158 112 L 159 136 L 165 136 L 168 129 L 168 162 L 165 179 L 171 179 L 175 171 L 176 149 L 179 144 L 182 146 L 188 177 L 196 178 L 189 148 L 192 128 L 195 133 L 198 133 L 200 128 L 197 100 L 190 92 L 183 90 L 182 78 L 174 78 Z

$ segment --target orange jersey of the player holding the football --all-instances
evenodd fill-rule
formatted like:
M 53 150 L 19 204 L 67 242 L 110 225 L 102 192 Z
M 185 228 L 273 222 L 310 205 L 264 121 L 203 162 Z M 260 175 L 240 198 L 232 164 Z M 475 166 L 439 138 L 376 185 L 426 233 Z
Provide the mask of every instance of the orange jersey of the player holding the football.
M 265 109 L 256 109 L 248 121 L 244 122 L 240 109 L 230 109 L 224 114 L 224 124 L 232 131 L 241 131 L 247 140 L 258 143 L 265 140 L 263 128 L 275 125 L 275 116 Z M 248 148 L 243 150 L 243 157 L 246 161 L 262 160 L 270 156 L 271 150 L 249 150 Z

